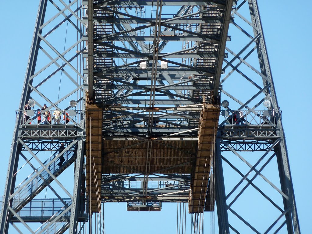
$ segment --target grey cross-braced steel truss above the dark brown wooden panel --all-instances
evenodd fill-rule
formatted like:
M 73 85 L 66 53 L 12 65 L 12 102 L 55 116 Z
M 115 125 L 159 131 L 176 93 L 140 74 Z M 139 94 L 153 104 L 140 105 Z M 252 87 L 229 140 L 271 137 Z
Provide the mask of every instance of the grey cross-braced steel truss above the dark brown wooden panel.
M 191 121 L 183 116 L 192 110 L 188 110 L 188 105 L 193 108 L 194 104 L 202 104 L 202 95 L 209 93 L 206 101 L 212 103 L 212 90 L 216 88 L 214 95 L 215 98 L 218 96 L 219 85 L 213 83 L 213 77 L 220 72 L 216 69 L 218 57 L 224 56 L 218 48 L 228 39 L 227 35 L 221 34 L 226 27 L 223 23 L 229 21 L 224 17 L 227 2 L 211 2 L 207 6 L 168 2 L 167 7 L 166 1 L 154 8 L 148 2 L 139 6 L 120 3 L 117 8 L 106 4 L 101 1 L 93 4 L 95 32 L 91 52 L 95 103 L 103 103 L 107 109 L 111 105 L 134 109 L 107 111 L 103 118 L 110 120 L 112 126 L 107 125 L 104 134 L 109 136 L 110 129 L 145 134 L 153 116 L 154 121 L 162 125 L 162 129 L 154 127 L 155 133 L 161 131 L 166 135 L 166 132 L 177 130 L 190 134 L 193 128 L 195 136 L 196 124 L 192 127 Z M 144 9 L 143 17 L 131 15 L 132 8 Z M 158 11 L 162 11 L 161 14 Z M 88 56 L 90 50 L 85 55 Z M 144 111 L 154 105 L 162 106 L 164 114 L 151 115 Z M 185 111 L 177 113 L 181 116 L 177 118 L 175 111 L 168 107 L 184 107 Z M 125 117 L 127 114 L 128 118 Z M 199 112 L 193 115 L 198 118 Z M 198 119 L 195 117 L 192 121 L 196 123 Z M 124 127 L 118 122 L 123 122 Z M 130 129 L 130 125 L 135 128 Z

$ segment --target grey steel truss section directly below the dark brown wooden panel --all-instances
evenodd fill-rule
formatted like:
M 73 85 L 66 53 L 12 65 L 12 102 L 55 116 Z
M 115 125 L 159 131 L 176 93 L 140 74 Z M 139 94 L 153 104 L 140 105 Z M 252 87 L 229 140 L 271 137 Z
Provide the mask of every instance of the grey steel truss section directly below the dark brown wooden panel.
M 147 185 L 144 185 L 147 183 Z M 104 202 L 188 202 L 191 177 L 188 174 L 113 174 L 102 177 Z M 144 187 L 147 192 L 143 195 Z M 144 203 L 143 202 L 143 203 Z

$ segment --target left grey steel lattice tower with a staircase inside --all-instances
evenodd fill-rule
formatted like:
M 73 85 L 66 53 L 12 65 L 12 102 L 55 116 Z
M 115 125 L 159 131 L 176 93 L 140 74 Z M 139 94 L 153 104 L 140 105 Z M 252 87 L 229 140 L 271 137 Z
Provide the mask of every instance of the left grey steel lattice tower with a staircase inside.
M 85 26 L 81 20 L 82 6 L 78 2 L 41 0 L 39 4 L 1 208 L 0 233 L 3 234 L 25 230 L 29 233 L 62 233 L 69 227 L 75 230 L 78 220 L 86 220 L 84 205 L 83 208 L 78 206 L 82 199 L 81 184 L 85 186 L 81 174 L 85 142 L 83 84 L 86 82 L 79 64 L 85 51 L 82 39 Z M 35 106 L 24 108 L 29 100 L 34 100 Z M 69 105 L 70 100 L 77 102 L 76 107 Z M 41 111 L 39 123 L 37 109 L 41 110 L 43 104 L 47 105 Z M 60 123 L 47 122 L 48 116 L 51 121 L 55 111 L 61 112 Z M 63 118 L 70 121 L 65 122 Z M 60 148 L 61 143 L 63 148 Z M 61 158 L 64 158 L 63 163 Z M 61 174 L 72 171 L 73 164 L 75 178 L 64 182 Z M 25 179 L 27 173 L 29 176 Z M 71 183 L 74 191 L 68 190 Z M 36 198 L 44 197 L 40 192 L 45 188 L 46 197 L 56 198 L 52 203 L 44 200 L 47 203 L 43 210 L 49 205 L 58 205 L 43 217 L 33 213 L 33 206 L 38 204 Z M 29 215 L 25 215 L 27 212 Z

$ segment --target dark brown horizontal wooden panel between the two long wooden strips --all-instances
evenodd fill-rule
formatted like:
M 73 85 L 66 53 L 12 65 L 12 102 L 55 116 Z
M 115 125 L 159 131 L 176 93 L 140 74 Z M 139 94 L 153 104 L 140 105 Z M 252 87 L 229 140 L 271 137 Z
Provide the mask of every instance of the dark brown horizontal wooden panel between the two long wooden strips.
M 102 173 L 191 174 L 196 148 L 197 141 L 104 140 Z

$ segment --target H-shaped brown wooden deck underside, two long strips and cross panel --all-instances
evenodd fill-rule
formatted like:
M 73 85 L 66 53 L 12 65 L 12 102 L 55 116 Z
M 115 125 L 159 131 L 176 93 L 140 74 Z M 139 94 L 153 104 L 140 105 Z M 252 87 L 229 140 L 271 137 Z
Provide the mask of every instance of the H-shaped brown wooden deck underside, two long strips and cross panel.
M 101 191 L 101 175 L 109 173 L 192 174 L 189 212 L 203 212 L 219 113 L 219 105 L 204 105 L 198 141 L 105 140 L 102 139 L 102 110 L 95 105 L 87 104 L 86 182 L 89 194 L 91 181 L 91 212 L 100 212 L 98 199 Z M 212 195 L 213 191 L 208 193 L 208 196 Z M 209 200 L 206 201 L 206 206 L 214 207 L 214 199 L 213 201 L 210 197 L 207 199 Z

